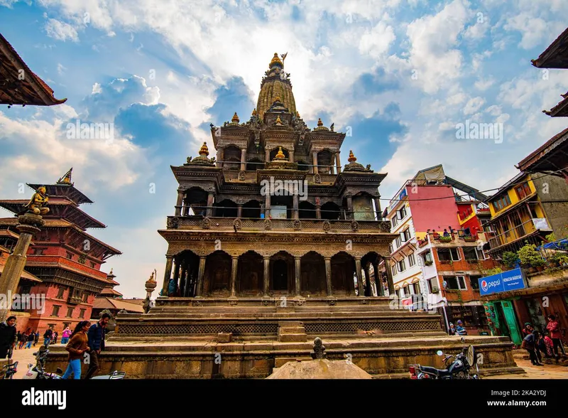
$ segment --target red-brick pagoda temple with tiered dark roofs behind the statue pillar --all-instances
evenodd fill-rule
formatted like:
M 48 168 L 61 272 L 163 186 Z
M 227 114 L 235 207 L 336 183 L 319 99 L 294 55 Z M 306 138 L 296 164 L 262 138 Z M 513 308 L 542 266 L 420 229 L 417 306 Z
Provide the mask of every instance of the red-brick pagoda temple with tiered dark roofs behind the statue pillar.
M 45 309 L 41 313 L 13 312 L 18 316 L 18 329 L 31 327 L 41 332 L 53 326 L 61 333 L 66 326 L 91 318 L 95 297 L 117 284 L 114 275 L 107 276 L 100 269 L 106 259 L 121 252 L 86 232 L 106 225 L 79 208 L 92 200 L 75 188 L 71 176 L 72 169 L 55 184 L 45 185 L 50 211 L 43 215 L 45 225 L 28 250 L 25 272 L 30 277 L 23 276 L 27 280 L 21 282 L 21 286 L 27 284 L 22 293 L 45 294 Z M 37 191 L 43 185 L 28 186 Z M 26 203 L 28 200 L 0 200 L 0 207 L 18 215 Z M 17 224 L 16 216 L 0 218 L 4 247 L 11 248 L 18 240 Z

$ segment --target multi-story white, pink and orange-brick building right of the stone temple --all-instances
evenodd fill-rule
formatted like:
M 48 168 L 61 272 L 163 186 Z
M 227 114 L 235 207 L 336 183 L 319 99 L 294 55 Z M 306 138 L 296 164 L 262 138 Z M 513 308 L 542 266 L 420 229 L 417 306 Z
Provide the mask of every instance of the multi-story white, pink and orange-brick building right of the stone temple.
M 398 235 L 391 244 L 397 295 L 420 295 L 413 300 L 430 309 L 447 304 L 446 325 L 461 319 L 470 333 L 486 329 L 477 279 L 494 267 L 483 250 L 489 214 L 484 198 L 439 165 L 418 171 L 383 213 Z

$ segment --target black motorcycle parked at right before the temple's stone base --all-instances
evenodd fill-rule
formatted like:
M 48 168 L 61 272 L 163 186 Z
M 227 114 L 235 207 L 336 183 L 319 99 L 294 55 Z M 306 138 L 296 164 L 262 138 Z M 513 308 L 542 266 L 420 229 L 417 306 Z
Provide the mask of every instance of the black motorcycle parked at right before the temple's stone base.
M 466 348 L 465 338 L 461 337 L 461 342 L 464 343 L 464 348 L 461 353 L 455 355 L 447 355 L 442 350 L 437 351 L 437 355 L 444 356 L 444 369 L 431 368 L 420 364 L 410 365 L 409 373 L 410 379 L 439 379 L 439 380 L 454 380 L 454 379 L 479 379 L 479 367 L 477 365 L 477 356 L 473 345 Z M 448 361 L 452 360 L 452 363 Z

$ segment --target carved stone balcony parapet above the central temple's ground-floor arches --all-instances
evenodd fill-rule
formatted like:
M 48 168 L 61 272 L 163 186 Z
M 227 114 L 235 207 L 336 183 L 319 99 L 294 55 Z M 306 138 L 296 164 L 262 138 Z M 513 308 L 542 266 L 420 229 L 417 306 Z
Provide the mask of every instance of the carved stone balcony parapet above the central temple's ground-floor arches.
M 203 218 L 201 216 L 168 216 L 168 230 L 213 231 L 300 231 L 303 232 L 368 232 L 391 233 L 391 223 L 385 220 L 325 220 L 325 219 L 263 219 L 263 218 Z

